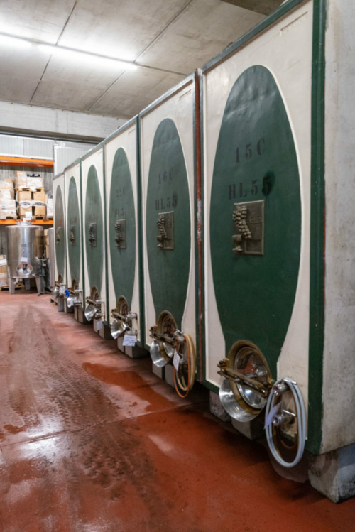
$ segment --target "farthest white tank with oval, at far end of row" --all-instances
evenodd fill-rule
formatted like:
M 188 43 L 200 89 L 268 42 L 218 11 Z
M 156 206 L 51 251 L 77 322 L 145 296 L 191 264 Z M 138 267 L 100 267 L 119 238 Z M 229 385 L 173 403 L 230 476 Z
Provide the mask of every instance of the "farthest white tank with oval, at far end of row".
M 53 178 L 54 240 L 55 240 L 55 289 L 58 312 L 65 310 L 67 268 L 65 250 L 65 181 L 64 173 Z

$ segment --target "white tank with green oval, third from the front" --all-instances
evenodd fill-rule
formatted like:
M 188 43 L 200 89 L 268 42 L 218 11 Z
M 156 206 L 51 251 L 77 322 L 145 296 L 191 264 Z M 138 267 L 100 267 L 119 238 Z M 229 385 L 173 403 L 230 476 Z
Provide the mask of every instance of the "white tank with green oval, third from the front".
M 118 347 L 145 357 L 141 282 L 141 198 L 138 180 L 138 119 L 104 141 L 107 224 L 107 322 Z M 135 345 L 124 346 L 130 335 Z M 125 341 L 126 343 L 126 341 Z

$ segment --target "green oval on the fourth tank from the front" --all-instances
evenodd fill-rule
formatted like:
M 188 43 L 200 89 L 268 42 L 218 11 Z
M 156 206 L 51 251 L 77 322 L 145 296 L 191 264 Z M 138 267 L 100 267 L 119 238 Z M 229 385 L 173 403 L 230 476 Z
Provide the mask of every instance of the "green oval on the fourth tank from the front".
M 85 200 L 84 238 L 87 250 L 87 272 L 90 290 L 95 286 L 100 293 L 104 266 L 104 224 L 99 179 L 94 165 L 87 173 L 87 195 Z

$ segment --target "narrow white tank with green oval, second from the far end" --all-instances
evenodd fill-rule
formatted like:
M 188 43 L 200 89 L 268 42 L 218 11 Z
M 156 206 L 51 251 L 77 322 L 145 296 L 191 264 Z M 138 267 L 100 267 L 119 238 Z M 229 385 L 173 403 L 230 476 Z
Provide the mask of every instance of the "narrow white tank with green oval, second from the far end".
M 82 273 L 82 195 L 80 161 L 64 170 L 65 219 L 67 253 L 67 290 L 65 308 L 84 322 L 84 289 Z

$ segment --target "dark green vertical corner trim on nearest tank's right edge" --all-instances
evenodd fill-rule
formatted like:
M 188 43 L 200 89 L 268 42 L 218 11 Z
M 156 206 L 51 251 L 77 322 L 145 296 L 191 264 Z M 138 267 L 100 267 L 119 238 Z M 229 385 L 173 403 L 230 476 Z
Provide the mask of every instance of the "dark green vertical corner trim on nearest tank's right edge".
M 310 349 L 308 373 L 308 438 L 306 448 L 319 454 L 323 422 L 324 352 L 324 90 L 326 0 L 314 3 L 312 51 Z

